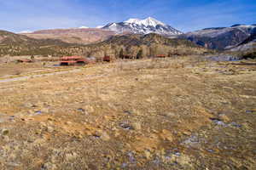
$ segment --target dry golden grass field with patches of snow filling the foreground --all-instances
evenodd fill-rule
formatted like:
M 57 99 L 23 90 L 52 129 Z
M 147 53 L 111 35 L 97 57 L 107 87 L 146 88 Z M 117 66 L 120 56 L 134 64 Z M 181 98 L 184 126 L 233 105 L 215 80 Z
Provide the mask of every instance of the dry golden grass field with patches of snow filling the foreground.
M 0 169 L 256 169 L 255 60 L 4 65 Z

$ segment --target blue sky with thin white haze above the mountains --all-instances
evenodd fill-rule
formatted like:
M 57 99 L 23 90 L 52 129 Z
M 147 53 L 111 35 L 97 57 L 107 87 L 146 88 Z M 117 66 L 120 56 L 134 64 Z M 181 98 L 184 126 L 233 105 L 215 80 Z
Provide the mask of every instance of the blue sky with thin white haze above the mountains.
M 181 31 L 256 24 L 256 0 L 0 0 L 0 30 L 96 27 L 154 17 Z

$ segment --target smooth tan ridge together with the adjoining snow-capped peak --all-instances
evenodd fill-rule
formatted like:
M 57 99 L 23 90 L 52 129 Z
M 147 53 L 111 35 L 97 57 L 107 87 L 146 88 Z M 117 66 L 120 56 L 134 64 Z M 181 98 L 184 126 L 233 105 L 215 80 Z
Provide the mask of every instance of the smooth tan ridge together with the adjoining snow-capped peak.
M 89 44 L 91 42 L 102 42 L 109 37 L 120 34 L 148 34 L 156 33 L 166 37 L 177 37 L 181 31 L 168 26 L 159 20 L 148 17 L 145 20 L 130 19 L 119 23 L 109 23 L 98 28 L 72 28 L 52 29 L 21 33 L 27 37 L 36 39 L 51 38 L 68 43 Z

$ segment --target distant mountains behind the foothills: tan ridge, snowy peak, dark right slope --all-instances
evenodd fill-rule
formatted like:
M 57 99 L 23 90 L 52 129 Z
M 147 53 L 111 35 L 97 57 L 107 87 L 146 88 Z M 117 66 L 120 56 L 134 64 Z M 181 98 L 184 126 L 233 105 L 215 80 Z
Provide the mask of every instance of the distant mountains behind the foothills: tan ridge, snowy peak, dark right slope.
M 115 35 L 156 33 L 165 37 L 187 39 L 204 48 L 226 50 L 236 48 L 237 45 L 250 37 L 255 29 L 255 25 L 234 25 L 183 33 L 159 20 L 148 17 L 144 20 L 129 19 L 123 22 L 109 23 L 106 26 L 101 26 L 101 28 L 54 29 L 34 31 L 22 35 L 37 39 L 58 39 L 67 43 L 90 44 L 102 42 Z

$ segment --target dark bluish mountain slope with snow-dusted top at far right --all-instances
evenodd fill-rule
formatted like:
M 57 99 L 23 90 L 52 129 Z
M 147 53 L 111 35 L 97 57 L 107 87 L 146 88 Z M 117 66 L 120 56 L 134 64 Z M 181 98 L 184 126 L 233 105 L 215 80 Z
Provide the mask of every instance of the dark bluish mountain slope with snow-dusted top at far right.
M 255 29 L 256 26 L 253 25 L 234 25 L 193 31 L 180 37 L 186 38 L 205 48 L 224 50 L 246 40 Z

